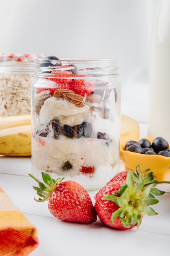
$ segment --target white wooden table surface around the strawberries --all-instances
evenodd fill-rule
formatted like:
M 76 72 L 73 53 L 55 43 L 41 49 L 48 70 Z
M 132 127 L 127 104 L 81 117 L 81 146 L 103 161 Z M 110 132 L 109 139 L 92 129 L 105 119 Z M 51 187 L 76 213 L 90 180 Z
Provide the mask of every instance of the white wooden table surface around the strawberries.
M 140 124 L 140 137 L 147 136 L 147 125 Z M 120 171 L 124 165 L 120 163 Z M 30 157 L 0 156 L 0 187 L 38 229 L 39 245 L 30 256 L 170 255 L 170 193 L 159 197 L 153 208 L 159 214 L 144 216 L 139 230 L 119 231 L 98 219 L 90 225 L 63 222 L 54 218 L 48 202 L 33 199 L 36 191 Z M 89 192 L 94 202 L 97 191 Z

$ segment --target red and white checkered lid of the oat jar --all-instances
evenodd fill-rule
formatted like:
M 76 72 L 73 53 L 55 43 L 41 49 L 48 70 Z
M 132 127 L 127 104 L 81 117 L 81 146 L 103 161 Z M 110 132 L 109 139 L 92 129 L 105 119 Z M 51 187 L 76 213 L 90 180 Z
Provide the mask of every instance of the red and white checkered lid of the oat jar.
M 37 58 L 45 58 L 48 54 L 2 53 L 0 61 L 35 62 Z

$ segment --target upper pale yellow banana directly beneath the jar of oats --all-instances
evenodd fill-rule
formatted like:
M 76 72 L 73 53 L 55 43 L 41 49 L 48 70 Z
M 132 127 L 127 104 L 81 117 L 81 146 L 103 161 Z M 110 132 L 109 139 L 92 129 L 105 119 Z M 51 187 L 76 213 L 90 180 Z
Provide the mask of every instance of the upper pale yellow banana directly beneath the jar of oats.
M 0 117 L 0 130 L 31 124 L 31 115 Z

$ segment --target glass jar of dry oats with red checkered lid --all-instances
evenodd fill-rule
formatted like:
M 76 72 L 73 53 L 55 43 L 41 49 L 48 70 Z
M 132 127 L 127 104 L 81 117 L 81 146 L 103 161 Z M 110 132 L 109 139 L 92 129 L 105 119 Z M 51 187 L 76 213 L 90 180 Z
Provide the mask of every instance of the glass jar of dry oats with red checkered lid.
M 31 114 L 35 59 L 44 54 L 0 54 L 0 116 Z

